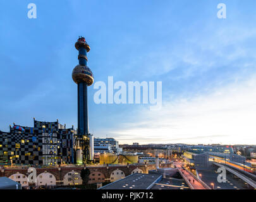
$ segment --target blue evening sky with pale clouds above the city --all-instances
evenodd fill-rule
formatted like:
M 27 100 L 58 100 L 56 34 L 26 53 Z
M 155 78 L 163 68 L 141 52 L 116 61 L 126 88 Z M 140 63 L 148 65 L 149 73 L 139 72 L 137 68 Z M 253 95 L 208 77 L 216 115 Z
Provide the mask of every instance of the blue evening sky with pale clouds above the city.
M 27 16 L 29 3 L 37 18 Z M 226 4 L 226 19 L 217 4 Z M 253 0 L 11 0 L 0 3 L 0 130 L 15 122 L 77 126 L 79 35 L 94 81 L 161 81 L 162 108 L 95 104 L 89 130 L 119 144 L 256 144 Z

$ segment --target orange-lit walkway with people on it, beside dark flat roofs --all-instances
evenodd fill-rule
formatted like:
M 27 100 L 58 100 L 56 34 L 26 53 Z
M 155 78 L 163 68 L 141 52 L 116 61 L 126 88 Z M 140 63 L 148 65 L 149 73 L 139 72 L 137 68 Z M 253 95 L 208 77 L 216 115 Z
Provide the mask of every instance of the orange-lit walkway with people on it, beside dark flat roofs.
M 180 162 L 174 162 L 174 165 L 176 165 L 178 172 L 186 181 L 186 184 L 188 184 L 190 189 L 211 189 L 207 184 L 195 177 L 195 175 L 193 175 L 191 172 L 184 169 Z

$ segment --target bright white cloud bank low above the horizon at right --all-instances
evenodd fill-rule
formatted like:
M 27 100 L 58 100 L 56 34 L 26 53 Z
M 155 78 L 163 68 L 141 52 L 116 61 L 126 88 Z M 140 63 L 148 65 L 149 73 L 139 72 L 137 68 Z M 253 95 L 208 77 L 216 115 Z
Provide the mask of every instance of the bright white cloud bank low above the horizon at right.
M 157 112 L 113 129 L 120 143 L 256 144 L 256 75 L 205 95 L 167 100 Z

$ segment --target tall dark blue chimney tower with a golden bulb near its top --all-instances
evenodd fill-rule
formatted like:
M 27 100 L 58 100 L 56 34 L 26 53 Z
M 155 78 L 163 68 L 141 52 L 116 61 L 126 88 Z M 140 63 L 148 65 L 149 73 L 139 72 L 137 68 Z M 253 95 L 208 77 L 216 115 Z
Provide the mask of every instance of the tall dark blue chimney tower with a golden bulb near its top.
M 93 136 L 88 133 L 88 105 L 87 86 L 94 83 L 92 71 L 87 66 L 87 52 L 90 46 L 84 37 L 79 37 L 75 43 L 76 50 L 79 51 L 79 64 L 73 69 L 72 78 L 77 84 L 78 95 L 78 131 L 76 134 L 76 163 L 87 163 L 94 158 Z

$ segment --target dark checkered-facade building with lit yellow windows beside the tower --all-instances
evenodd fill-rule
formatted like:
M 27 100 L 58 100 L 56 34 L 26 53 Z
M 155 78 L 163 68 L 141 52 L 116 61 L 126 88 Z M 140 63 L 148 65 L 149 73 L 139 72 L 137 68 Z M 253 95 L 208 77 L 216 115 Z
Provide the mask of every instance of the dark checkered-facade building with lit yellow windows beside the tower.
M 14 126 L 18 126 L 15 125 Z M 0 131 L 0 158 L 8 163 L 30 165 L 56 165 L 73 163 L 74 129 L 56 122 L 35 121 L 34 127 L 10 132 Z

